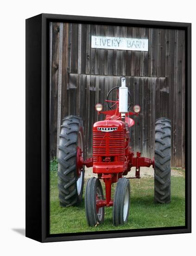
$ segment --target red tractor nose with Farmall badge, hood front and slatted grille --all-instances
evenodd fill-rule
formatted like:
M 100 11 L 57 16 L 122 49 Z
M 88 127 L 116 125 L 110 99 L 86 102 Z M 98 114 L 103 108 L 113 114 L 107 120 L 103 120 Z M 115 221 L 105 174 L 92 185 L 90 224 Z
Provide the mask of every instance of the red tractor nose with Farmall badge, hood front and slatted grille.
M 126 161 L 126 148 L 128 144 L 126 123 L 117 120 L 98 121 L 93 127 L 93 168 L 97 172 L 102 167 L 114 170 L 123 167 Z M 121 168 L 123 172 L 123 168 Z M 119 172 L 119 170 L 118 170 Z

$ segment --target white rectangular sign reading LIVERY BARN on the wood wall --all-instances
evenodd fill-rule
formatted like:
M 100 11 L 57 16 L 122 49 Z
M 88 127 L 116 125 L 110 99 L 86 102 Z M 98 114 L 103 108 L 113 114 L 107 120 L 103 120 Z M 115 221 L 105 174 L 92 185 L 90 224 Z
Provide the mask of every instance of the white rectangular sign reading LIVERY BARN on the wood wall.
M 92 35 L 91 47 L 129 51 L 148 51 L 148 39 Z

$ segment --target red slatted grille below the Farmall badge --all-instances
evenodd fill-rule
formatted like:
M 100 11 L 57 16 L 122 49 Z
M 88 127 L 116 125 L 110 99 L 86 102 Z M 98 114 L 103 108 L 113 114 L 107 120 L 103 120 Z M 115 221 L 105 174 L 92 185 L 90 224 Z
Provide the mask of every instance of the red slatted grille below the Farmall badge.
M 124 161 L 124 132 L 93 132 L 93 161 L 97 156 L 118 156 L 118 161 Z

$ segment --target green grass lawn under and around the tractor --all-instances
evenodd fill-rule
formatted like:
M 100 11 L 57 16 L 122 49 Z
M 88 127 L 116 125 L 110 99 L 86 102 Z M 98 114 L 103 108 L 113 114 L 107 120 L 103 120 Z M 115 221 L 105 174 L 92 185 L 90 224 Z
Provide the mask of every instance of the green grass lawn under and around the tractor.
M 154 203 L 153 178 L 131 179 L 131 206 L 128 222 L 123 226 L 113 226 L 112 207 L 106 207 L 104 224 L 98 225 L 97 227 L 89 227 L 85 216 L 84 197 L 79 207 L 62 208 L 59 206 L 57 163 L 53 162 L 50 171 L 50 233 L 60 234 L 115 229 L 184 226 L 184 181 L 184 173 L 183 176 L 171 177 L 171 203 L 161 205 Z M 102 185 L 104 186 L 104 183 Z M 114 194 L 114 189 L 115 185 L 112 188 L 112 194 Z

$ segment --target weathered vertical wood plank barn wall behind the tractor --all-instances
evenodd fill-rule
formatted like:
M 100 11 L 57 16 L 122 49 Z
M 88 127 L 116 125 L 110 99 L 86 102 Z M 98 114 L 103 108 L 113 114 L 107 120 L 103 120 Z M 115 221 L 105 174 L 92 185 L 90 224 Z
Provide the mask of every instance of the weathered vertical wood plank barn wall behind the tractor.
M 148 39 L 149 51 L 91 48 L 91 35 Z M 141 106 L 131 128 L 134 151 L 152 157 L 155 120 L 168 117 L 172 125 L 172 166 L 185 165 L 185 34 L 182 30 L 115 27 L 89 24 L 50 24 L 50 157 L 57 156 L 63 116 L 80 115 L 85 129 L 85 155 L 92 155 L 92 126 L 103 120 L 95 104 L 108 91 L 126 86 L 132 102 Z M 133 106 L 132 106 L 133 107 Z

